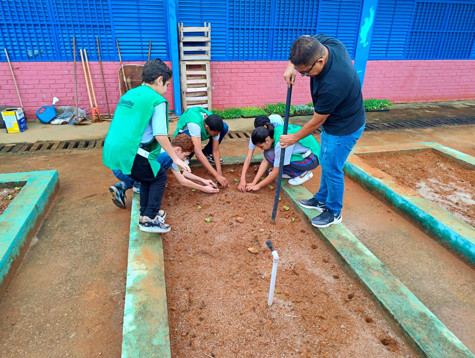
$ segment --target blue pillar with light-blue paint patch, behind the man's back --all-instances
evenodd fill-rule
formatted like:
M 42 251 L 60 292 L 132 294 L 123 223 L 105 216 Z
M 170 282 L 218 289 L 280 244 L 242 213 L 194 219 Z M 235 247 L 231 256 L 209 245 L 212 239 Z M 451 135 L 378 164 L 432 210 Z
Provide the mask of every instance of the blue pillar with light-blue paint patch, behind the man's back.
M 354 67 L 360 77 L 361 87 L 363 87 L 366 62 L 370 57 L 371 39 L 373 36 L 374 19 L 378 9 L 378 0 L 364 0 L 361 10 L 362 21 L 358 39 L 356 40 Z

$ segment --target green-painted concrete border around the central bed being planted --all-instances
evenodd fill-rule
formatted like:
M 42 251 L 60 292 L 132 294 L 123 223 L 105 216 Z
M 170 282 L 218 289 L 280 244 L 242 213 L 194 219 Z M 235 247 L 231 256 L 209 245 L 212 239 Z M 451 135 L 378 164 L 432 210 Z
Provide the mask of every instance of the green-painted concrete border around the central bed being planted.
M 245 156 L 224 158 L 226 164 L 242 164 Z M 253 163 L 262 161 L 255 156 Z M 192 161 L 195 166 L 198 162 Z M 282 185 L 282 195 L 310 222 L 317 213 L 298 205 L 312 194 L 303 186 Z M 140 232 L 137 226 L 139 196 L 134 194 L 127 288 L 125 293 L 122 358 L 171 357 L 163 249 L 160 234 Z M 270 219 L 269 219 L 270 221 Z M 394 277 L 348 229 L 333 225 L 318 230 L 318 237 L 336 252 L 345 270 L 357 278 L 419 351 L 428 357 L 475 356 Z

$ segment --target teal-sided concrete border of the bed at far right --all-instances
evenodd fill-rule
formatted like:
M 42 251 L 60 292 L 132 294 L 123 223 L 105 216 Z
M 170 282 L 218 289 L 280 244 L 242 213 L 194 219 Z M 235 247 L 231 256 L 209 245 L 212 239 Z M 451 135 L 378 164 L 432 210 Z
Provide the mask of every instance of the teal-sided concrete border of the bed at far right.
M 433 150 L 457 164 L 475 169 L 475 158 L 435 142 L 404 145 L 357 147 L 345 164 L 344 172 L 369 193 L 382 198 L 408 217 L 424 232 L 436 238 L 462 260 L 475 265 L 475 228 L 458 219 L 415 191 L 399 185 L 390 175 L 365 163 L 358 154 L 409 153 Z

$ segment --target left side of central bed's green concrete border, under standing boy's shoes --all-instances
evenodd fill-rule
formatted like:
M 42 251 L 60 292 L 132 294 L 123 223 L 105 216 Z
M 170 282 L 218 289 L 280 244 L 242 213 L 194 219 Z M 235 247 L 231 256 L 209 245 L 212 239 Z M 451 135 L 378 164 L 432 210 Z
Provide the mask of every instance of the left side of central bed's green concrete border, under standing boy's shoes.
M 171 351 L 161 235 L 140 231 L 138 219 L 139 195 L 134 193 L 122 358 L 167 358 L 171 357 Z

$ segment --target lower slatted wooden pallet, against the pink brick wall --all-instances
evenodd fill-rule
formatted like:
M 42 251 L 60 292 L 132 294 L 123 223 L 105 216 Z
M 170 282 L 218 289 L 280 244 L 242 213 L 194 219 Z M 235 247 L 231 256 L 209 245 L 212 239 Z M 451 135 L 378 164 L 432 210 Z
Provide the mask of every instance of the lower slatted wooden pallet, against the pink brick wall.
M 209 61 L 180 61 L 180 82 L 184 111 L 196 106 L 211 110 Z

